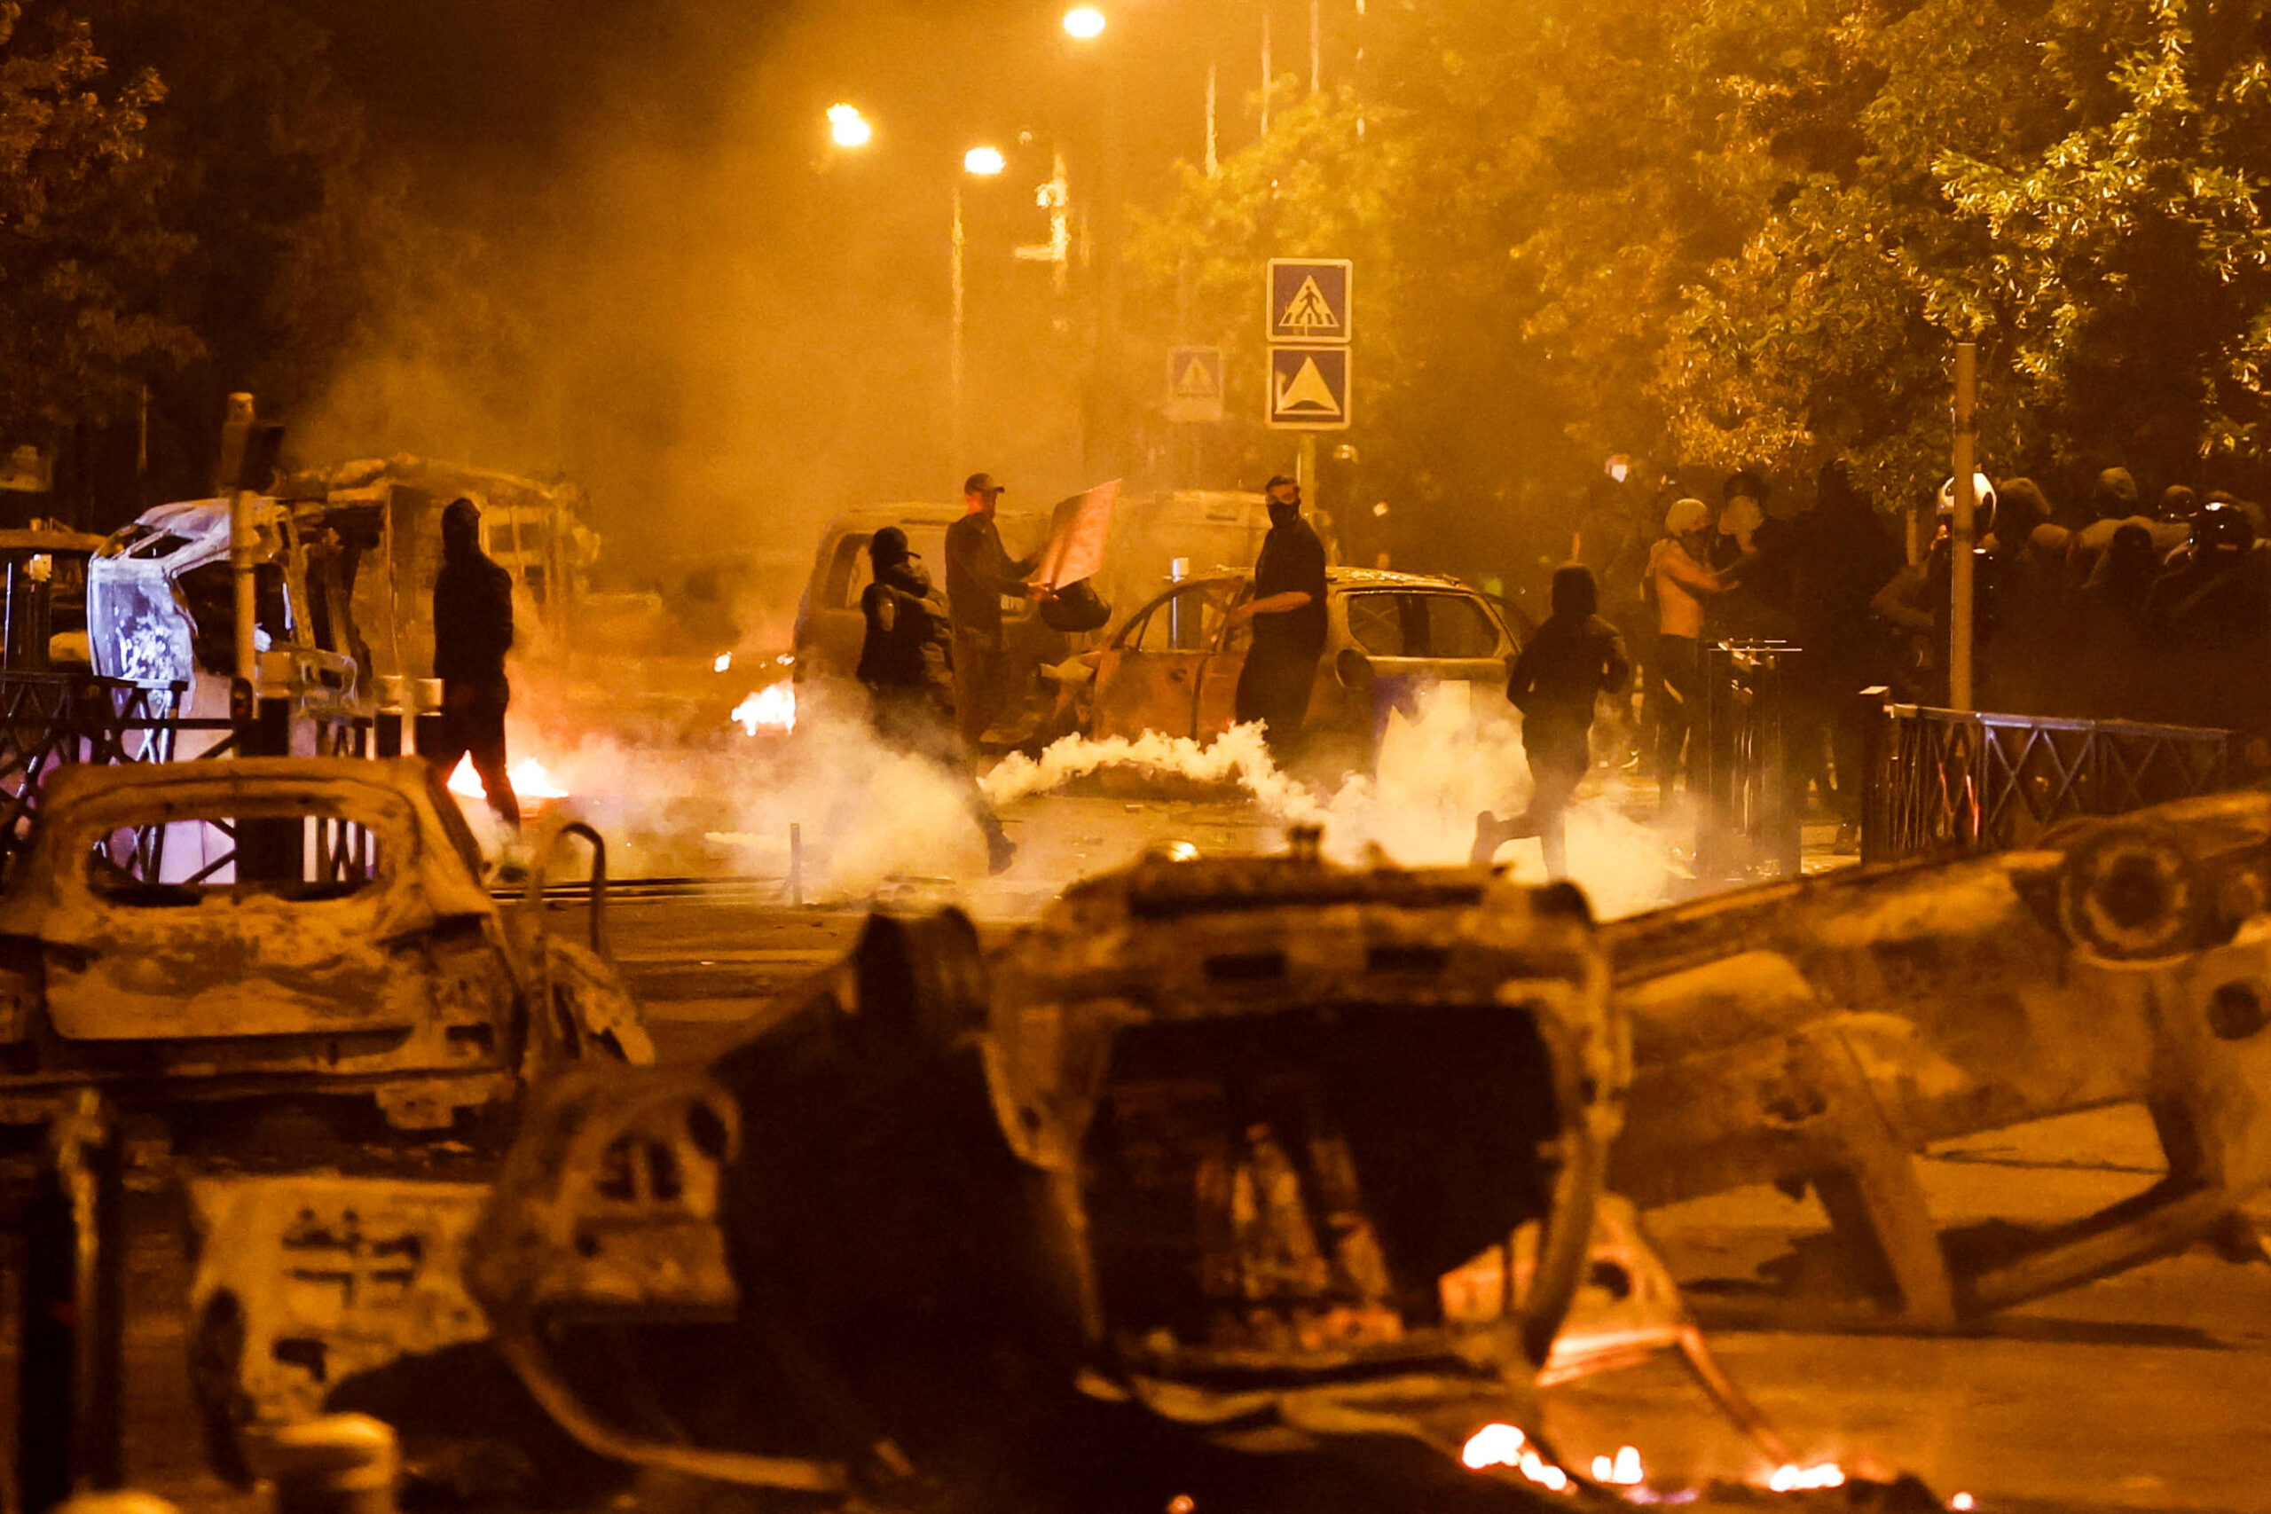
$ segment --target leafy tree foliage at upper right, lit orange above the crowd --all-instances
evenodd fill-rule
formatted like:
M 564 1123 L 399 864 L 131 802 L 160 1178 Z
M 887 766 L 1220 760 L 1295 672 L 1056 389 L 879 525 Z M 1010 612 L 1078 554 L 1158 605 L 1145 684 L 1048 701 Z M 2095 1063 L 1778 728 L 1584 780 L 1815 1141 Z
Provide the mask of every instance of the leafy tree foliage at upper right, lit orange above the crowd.
M 2264 5 L 1369 9 L 1356 89 L 1185 177 L 1133 252 L 1154 291 L 1199 259 L 1231 331 L 1260 259 L 1358 256 L 1360 440 L 1406 481 L 1842 456 L 1914 497 L 1958 338 L 1998 472 L 2253 465 Z

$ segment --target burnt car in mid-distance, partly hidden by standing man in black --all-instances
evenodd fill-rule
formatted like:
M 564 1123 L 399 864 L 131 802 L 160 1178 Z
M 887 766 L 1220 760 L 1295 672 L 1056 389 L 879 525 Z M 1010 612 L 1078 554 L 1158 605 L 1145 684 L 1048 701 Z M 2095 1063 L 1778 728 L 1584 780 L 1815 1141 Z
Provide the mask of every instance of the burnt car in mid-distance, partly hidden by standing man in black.
M 1201 740 L 1226 731 L 1251 645 L 1251 622 L 1229 624 L 1229 613 L 1251 595 L 1251 574 L 1215 574 L 1129 615 L 1097 656 L 1088 731 Z M 1367 760 L 1388 715 L 1417 713 L 1428 688 L 1456 690 L 1476 710 L 1508 708 L 1506 658 L 1519 647 L 1488 595 L 1372 567 L 1329 567 L 1324 595 L 1326 645 L 1308 729 L 1335 754 Z

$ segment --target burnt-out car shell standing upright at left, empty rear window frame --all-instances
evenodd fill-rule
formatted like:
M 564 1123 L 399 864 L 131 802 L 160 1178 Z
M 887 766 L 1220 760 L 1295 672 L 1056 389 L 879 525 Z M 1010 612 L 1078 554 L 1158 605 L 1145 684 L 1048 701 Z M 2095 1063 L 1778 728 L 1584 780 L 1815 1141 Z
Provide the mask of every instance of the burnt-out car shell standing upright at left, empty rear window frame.
M 89 1085 L 347 1094 L 397 1128 L 650 1062 L 595 951 L 497 908 L 418 760 L 66 767 L 0 890 L 0 1121 Z

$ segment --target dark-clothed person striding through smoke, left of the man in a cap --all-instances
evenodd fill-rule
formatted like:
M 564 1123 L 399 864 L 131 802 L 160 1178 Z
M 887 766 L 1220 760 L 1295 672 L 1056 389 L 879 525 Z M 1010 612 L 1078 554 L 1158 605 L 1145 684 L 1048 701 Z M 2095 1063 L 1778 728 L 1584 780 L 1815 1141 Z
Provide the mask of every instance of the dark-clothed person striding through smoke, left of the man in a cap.
M 961 790 L 963 808 L 986 835 L 988 872 L 1002 872 L 1017 844 L 1002 831 L 986 790 L 970 772 L 970 756 L 954 731 L 954 647 L 945 602 L 931 574 L 906 549 L 906 531 L 883 527 L 868 542 L 874 583 L 861 590 L 868 622 L 858 649 L 858 681 L 868 690 L 877 735 L 938 767 Z

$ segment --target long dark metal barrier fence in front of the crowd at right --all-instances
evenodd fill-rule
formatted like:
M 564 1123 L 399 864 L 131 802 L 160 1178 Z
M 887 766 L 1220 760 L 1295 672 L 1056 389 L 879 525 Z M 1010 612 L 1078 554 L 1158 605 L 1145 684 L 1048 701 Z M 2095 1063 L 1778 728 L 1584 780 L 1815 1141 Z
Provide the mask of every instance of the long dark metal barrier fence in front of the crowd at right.
M 2126 815 L 2237 781 L 2230 731 L 1887 704 L 1871 724 L 1860 858 L 2026 847 L 2076 815 Z

